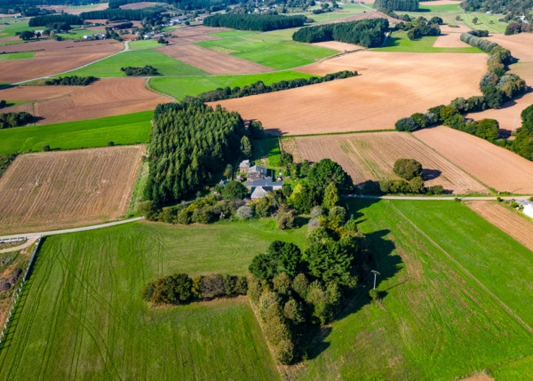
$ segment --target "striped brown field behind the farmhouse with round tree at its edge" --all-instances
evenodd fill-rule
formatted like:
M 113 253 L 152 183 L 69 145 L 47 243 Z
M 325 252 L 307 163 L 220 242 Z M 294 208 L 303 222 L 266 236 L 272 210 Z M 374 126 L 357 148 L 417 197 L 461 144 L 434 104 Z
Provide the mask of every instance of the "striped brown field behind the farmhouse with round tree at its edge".
M 284 139 L 282 139 L 283 141 Z M 330 158 L 347 171 L 354 184 L 366 180 L 400 179 L 394 162 L 411 158 L 422 163 L 426 186 L 442 185 L 449 192 L 487 193 L 488 189 L 408 133 L 370 132 L 295 138 L 298 155 L 311 162 Z M 283 147 L 286 146 L 283 144 Z

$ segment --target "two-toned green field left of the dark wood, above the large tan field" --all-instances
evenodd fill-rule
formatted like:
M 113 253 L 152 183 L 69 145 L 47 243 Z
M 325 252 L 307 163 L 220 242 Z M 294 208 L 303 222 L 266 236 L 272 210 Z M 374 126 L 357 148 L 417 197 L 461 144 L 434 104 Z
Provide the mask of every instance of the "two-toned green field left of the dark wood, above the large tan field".
M 336 54 L 336 51 L 292 41 L 294 29 L 235 36 L 196 43 L 204 48 L 251 60 L 277 70 L 300 67 Z

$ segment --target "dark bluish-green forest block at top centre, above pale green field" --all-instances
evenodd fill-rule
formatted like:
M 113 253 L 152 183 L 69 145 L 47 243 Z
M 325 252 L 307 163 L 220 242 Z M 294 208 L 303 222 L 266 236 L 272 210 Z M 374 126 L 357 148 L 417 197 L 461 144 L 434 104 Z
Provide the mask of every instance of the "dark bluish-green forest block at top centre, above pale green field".
M 214 14 L 203 19 L 203 25 L 213 28 L 234 28 L 239 30 L 268 30 L 300 28 L 306 16 L 282 16 L 279 14 L 225 13 Z

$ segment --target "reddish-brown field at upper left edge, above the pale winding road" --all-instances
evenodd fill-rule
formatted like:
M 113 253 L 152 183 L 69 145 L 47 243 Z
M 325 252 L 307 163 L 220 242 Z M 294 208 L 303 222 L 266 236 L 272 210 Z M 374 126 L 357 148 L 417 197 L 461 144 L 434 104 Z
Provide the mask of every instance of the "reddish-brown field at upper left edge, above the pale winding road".
M 61 44 L 66 43 L 66 44 Z M 5 46 L 6 52 L 35 51 L 33 59 L 0 61 L 0 83 L 18 83 L 46 75 L 59 74 L 110 56 L 123 50 L 123 44 L 94 41 L 43 41 Z

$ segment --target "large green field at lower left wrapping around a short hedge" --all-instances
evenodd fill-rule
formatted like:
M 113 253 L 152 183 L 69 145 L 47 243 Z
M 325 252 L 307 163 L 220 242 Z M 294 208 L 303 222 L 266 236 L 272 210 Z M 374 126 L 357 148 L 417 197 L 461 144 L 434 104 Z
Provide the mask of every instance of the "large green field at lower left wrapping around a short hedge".
M 245 274 L 272 240 L 301 244 L 305 233 L 265 220 L 49 237 L 0 351 L 0 379 L 279 379 L 243 298 L 149 309 L 138 293 L 166 274 Z

